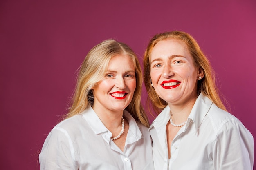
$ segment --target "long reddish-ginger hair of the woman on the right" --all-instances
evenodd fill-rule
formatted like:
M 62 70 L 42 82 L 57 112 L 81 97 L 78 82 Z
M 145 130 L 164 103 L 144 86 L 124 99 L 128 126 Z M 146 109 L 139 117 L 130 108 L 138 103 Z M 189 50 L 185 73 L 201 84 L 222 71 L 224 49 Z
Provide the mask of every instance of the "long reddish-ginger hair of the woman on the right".
M 154 46 L 162 40 L 176 39 L 181 40 L 187 46 L 189 53 L 193 58 L 193 62 L 196 67 L 202 68 L 204 71 L 204 77 L 198 81 L 197 93 L 203 93 L 209 97 L 216 106 L 226 110 L 224 104 L 220 99 L 220 93 L 215 85 L 215 73 L 211 67 L 211 64 L 207 57 L 200 49 L 196 40 L 188 33 L 182 31 L 165 32 L 155 35 L 149 42 L 148 47 L 144 53 L 144 83 L 148 92 L 148 105 L 153 104 L 153 110 L 159 114 L 163 108 L 167 106 L 167 102 L 161 99 L 154 88 L 151 86 L 150 78 L 150 55 Z M 152 112 L 151 112 L 152 113 Z

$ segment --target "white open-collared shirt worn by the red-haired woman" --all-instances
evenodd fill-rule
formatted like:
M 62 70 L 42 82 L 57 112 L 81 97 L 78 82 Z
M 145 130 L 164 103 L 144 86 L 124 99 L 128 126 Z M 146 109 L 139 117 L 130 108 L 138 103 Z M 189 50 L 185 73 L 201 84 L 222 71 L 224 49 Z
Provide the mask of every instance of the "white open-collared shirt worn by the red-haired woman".
M 150 126 L 155 170 L 252 170 L 252 134 L 208 97 L 199 95 L 171 143 L 170 159 L 166 138 L 169 120 L 167 106 Z

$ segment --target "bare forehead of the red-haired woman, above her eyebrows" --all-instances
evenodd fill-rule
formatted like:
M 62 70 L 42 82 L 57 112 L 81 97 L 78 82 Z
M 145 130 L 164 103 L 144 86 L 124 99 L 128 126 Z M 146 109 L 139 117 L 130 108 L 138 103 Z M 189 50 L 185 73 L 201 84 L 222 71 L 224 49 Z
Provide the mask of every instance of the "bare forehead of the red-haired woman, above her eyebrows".
M 173 55 L 190 56 L 188 48 L 182 40 L 168 39 L 159 41 L 151 51 L 150 60 Z

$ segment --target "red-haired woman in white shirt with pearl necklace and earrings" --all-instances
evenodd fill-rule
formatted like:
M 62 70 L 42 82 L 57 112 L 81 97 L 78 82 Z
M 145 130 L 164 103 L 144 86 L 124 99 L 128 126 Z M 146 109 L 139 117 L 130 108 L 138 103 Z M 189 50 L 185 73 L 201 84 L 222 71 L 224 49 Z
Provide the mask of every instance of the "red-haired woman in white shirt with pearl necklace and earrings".
M 150 126 L 155 170 L 252 170 L 253 137 L 227 112 L 191 35 L 155 35 L 144 54 L 144 82 L 159 114 Z

